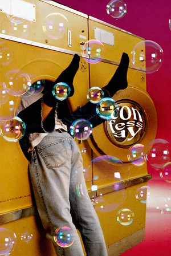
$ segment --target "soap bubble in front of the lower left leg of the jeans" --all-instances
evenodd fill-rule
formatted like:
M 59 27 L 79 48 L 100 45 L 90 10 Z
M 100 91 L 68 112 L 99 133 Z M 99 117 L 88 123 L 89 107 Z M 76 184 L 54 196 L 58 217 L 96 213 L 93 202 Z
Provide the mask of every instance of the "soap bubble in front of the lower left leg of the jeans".
M 60 247 L 69 247 L 74 243 L 75 232 L 70 227 L 59 227 L 55 230 L 54 241 Z

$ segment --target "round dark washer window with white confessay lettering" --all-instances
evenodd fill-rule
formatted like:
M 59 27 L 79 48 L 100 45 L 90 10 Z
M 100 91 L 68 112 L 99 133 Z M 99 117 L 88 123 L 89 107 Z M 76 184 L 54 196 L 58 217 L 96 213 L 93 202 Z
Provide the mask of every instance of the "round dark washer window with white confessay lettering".
M 116 114 L 115 114 L 116 113 Z M 117 109 L 105 121 L 105 132 L 108 139 L 117 147 L 130 147 L 144 137 L 146 127 L 146 113 L 135 101 L 117 101 Z

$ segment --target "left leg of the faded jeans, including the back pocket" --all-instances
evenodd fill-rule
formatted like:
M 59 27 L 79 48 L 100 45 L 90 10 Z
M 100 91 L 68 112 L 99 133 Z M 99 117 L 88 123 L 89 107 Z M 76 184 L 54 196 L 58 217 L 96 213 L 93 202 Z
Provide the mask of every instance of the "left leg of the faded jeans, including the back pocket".
M 58 256 L 84 256 L 70 214 L 71 139 L 66 139 L 60 132 L 48 134 L 31 152 L 29 163 L 36 206 Z M 54 241 L 55 230 L 64 226 L 75 232 L 70 247 L 60 247 Z

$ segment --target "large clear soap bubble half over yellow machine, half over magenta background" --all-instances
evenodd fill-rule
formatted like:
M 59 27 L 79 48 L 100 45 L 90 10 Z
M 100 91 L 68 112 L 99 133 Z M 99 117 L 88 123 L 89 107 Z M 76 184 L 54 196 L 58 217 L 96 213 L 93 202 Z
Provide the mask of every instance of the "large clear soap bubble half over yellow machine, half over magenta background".
M 162 48 L 150 40 L 137 43 L 131 54 L 131 61 L 136 70 L 146 74 L 156 72 L 163 62 Z

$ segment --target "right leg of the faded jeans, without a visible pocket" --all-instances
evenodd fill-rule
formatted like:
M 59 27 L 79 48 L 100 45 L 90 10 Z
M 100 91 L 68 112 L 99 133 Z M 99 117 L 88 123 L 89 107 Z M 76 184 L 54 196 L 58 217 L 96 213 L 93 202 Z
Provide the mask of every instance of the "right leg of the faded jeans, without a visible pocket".
M 103 231 L 88 196 L 83 176 L 82 155 L 75 140 L 72 139 L 70 142 L 72 152 L 74 152 L 71 157 L 70 178 L 70 204 L 73 220 L 75 221 L 76 228 L 82 235 L 87 256 L 107 256 Z

